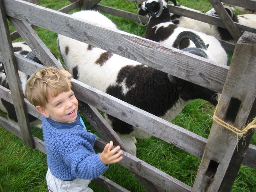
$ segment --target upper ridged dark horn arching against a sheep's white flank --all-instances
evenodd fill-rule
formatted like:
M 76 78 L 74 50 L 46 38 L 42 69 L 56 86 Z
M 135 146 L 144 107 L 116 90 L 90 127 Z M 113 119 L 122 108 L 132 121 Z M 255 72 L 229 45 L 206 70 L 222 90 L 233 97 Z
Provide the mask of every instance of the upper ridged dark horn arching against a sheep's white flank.
M 207 49 L 207 46 L 205 45 L 202 38 L 200 36 L 198 36 L 198 34 L 192 32 L 192 31 L 183 31 L 178 35 L 178 37 L 177 37 L 178 49 L 180 49 L 181 42 L 185 39 L 192 40 L 192 42 L 194 42 L 194 44 L 196 45 L 197 48 L 204 49 L 204 50 Z

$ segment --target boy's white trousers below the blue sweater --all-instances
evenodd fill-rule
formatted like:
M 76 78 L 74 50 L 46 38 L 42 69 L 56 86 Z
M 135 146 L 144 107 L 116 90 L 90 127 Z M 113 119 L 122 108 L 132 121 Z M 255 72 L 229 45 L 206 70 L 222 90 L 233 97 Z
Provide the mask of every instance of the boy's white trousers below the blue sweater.
M 93 192 L 88 187 L 88 184 L 91 182 L 90 179 L 76 178 L 72 181 L 60 180 L 53 176 L 49 168 L 46 174 L 46 182 L 49 192 Z

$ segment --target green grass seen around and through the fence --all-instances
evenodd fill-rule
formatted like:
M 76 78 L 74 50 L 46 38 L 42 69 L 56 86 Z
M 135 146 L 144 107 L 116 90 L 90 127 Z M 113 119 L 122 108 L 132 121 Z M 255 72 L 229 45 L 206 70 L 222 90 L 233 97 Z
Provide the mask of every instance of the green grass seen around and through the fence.
M 58 10 L 69 3 L 68 0 L 42 0 L 37 4 Z M 102 0 L 100 4 L 136 13 L 134 4 L 124 0 Z M 211 8 L 208 0 L 180 0 L 178 4 L 202 12 L 206 12 Z M 142 37 L 146 32 L 145 27 L 138 26 L 133 21 L 109 14 L 106 15 L 114 21 L 120 30 Z M 10 31 L 12 32 L 13 30 L 11 27 Z M 48 48 L 59 56 L 56 43 L 57 34 L 41 28 L 36 29 L 36 32 Z M 214 110 L 214 106 L 209 102 L 194 100 L 182 110 L 172 123 L 208 138 Z M 0 115 L 6 116 L 3 112 Z M 85 123 L 89 131 L 98 134 L 88 121 L 85 120 Z M 41 129 L 32 128 L 32 132 L 35 136 L 42 139 Z M 0 191 L 46 192 L 46 155 L 36 149 L 26 147 L 22 140 L 2 127 L 0 127 L 0 135 Z M 256 144 L 255 136 L 251 144 Z M 155 137 L 146 140 L 138 139 L 137 157 L 189 186 L 193 185 L 200 164 L 200 159 Z M 104 173 L 104 176 L 131 192 L 145 192 L 134 176 L 118 164 L 111 165 Z M 256 170 L 242 165 L 234 182 L 232 192 L 256 191 L 255 180 Z M 94 192 L 105 192 L 105 190 L 93 183 L 90 184 L 90 187 Z

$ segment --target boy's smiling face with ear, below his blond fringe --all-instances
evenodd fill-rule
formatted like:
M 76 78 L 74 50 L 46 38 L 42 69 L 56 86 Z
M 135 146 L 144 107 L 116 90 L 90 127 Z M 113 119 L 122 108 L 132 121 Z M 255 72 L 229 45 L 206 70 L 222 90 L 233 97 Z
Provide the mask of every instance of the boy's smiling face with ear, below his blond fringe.
M 76 120 L 78 100 L 72 90 L 62 92 L 56 97 L 52 97 L 51 94 L 48 94 L 47 101 L 45 107 L 36 106 L 38 112 L 46 118 L 51 118 L 61 123 L 71 123 Z

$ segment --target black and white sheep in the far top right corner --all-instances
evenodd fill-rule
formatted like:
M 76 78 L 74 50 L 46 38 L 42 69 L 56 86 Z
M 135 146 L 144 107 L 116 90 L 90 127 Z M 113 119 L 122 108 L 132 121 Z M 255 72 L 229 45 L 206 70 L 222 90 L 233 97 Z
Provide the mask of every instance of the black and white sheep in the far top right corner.
M 233 14 L 233 8 L 225 5 L 224 8 L 226 9 L 226 11 L 228 12 L 228 14 L 230 15 L 234 22 L 256 28 L 256 14 L 236 15 Z M 206 12 L 206 14 L 218 17 L 218 14 L 214 10 L 214 8 Z M 221 40 L 236 43 L 230 32 L 222 27 L 214 25 L 211 26 L 211 35 Z

